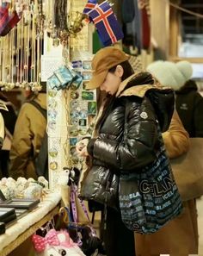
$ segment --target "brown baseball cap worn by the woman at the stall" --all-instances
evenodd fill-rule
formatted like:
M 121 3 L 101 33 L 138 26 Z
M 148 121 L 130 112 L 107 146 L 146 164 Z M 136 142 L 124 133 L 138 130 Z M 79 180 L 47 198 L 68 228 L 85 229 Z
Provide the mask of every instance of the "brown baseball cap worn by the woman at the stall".
M 110 68 L 128 59 L 129 55 L 115 47 L 105 47 L 99 50 L 92 59 L 93 74 L 86 89 L 98 88 L 105 80 Z

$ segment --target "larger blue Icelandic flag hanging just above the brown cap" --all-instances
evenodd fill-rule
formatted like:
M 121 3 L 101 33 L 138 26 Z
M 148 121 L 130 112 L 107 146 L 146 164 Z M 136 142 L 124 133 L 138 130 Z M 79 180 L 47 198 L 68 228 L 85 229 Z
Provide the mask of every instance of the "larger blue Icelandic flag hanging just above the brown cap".
M 96 4 L 95 8 L 89 11 L 88 15 L 95 23 L 95 28 L 105 47 L 114 44 L 124 37 L 113 9 L 107 1 L 101 4 Z

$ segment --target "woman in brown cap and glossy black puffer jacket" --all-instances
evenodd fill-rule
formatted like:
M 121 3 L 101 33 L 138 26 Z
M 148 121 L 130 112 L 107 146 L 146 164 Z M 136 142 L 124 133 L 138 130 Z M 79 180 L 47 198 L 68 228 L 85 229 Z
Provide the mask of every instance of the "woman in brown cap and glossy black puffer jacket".
M 77 153 L 90 156 L 92 166 L 106 166 L 107 170 L 118 176 L 120 172 L 136 172 L 152 163 L 157 150 L 163 146 L 163 141 L 158 139 L 158 129 L 159 125 L 163 130 L 169 128 L 174 105 L 173 92 L 162 93 L 163 89 L 153 85 L 153 78 L 148 72 L 133 74 L 128 56 L 114 47 L 97 52 L 92 68 L 93 78 L 89 81 L 88 89 L 99 87 L 108 93 L 108 97 L 97 116 L 94 138 L 80 141 Z M 150 91 L 156 91 L 157 99 L 162 100 L 163 104 L 159 106 L 162 111 L 157 109 L 158 104 L 152 106 L 154 103 L 147 97 Z M 84 174 L 82 186 L 85 177 Z M 107 209 L 104 240 L 108 256 L 135 255 L 133 232 L 122 223 L 120 212 L 111 207 Z

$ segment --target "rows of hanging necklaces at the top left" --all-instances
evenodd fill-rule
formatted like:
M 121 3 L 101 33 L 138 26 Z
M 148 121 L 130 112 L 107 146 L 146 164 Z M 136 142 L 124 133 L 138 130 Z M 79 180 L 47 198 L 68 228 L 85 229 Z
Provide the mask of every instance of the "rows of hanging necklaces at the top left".
M 41 89 L 40 56 L 45 28 L 42 6 L 41 0 L 2 3 L 1 10 L 7 16 L 1 19 L 1 28 L 5 29 L 0 37 L 0 87 L 4 91 L 14 87 Z

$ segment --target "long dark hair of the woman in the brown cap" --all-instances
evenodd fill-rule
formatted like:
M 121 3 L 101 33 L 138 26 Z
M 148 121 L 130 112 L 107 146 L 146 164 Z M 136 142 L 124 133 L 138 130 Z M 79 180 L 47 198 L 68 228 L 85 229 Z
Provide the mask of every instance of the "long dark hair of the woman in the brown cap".
M 126 80 L 126 78 L 129 78 L 130 76 L 132 76 L 132 74 L 134 73 L 133 69 L 132 69 L 132 66 L 130 65 L 129 61 L 126 60 L 124 62 L 121 62 L 120 64 L 118 64 L 120 66 L 122 66 L 123 68 L 123 75 L 121 77 L 121 81 L 124 81 Z M 111 67 L 108 72 L 110 73 L 114 73 L 115 70 L 116 70 L 116 67 L 118 66 L 113 66 Z M 113 105 L 114 105 L 114 102 L 115 102 L 115 96 L 106 96 L 108 97 L 106 103 L 105 103 L 105 106 L 104 106 L 104 109 L 102 111 L 102 116 L 100 117 L 100 119 L 98 120 L 98 122 L 96 122 L 96 125 L 95 125 L 95 130 L 98 131 L 99 128 L 102 126 L 102 123 L 107 119 Z

